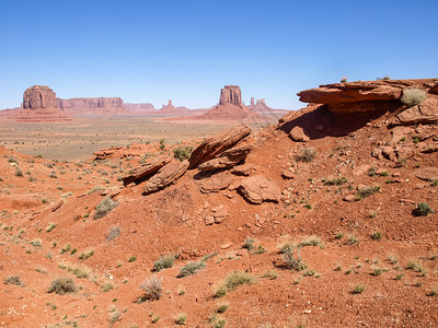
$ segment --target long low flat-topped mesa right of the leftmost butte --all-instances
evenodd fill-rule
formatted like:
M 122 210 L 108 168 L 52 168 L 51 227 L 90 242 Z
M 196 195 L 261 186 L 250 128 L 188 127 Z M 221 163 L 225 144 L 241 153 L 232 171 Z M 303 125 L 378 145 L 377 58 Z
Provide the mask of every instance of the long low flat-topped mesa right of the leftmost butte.
M 128 113 L 120 97 L 57 98 L 56 101 L 59 108 L 69 115 L 116 115 Z

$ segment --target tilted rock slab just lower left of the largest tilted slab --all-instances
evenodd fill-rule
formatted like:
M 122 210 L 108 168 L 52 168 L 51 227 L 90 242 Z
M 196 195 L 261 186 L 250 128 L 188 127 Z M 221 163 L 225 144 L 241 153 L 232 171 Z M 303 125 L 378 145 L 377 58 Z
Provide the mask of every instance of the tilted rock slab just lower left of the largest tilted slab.
M 145 185 L 145 195 L 155 192 L 173 184 L 184 175 L 188 168 L 188 161 L 170 162 L 159 169 Z

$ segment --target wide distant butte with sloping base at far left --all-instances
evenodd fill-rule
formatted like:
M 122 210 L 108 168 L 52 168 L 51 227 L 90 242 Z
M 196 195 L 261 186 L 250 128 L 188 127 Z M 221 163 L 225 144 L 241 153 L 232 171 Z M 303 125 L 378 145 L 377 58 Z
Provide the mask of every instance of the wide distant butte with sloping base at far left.
M 11 116 L 22 122 L 58 122 L 70 121 L 56 104 L 55 92 L 45 85 L 28 87 L 23 94 L 22 108 Z

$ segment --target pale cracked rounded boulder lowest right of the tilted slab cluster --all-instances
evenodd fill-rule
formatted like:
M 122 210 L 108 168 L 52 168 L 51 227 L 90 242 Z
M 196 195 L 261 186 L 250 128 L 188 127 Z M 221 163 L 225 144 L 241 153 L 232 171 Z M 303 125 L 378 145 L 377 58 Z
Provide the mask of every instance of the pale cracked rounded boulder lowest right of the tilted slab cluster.
M 241 183 L 239 191 L 251 203 L 278 202 L 281 198 L 281 190 L 277 184 L 261 175 L 245 178 Z

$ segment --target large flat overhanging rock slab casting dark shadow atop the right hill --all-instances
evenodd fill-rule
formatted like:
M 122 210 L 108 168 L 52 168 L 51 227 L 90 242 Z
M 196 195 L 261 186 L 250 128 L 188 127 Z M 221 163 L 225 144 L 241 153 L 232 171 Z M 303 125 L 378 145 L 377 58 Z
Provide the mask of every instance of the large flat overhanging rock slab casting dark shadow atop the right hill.
M 403 89 L 436 94 L 438 79 L 357 81 L 320 85 L 298 93 L 301 102 L 325 104 L 334 113 L 393 110 L 401 107 Z

